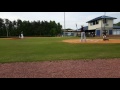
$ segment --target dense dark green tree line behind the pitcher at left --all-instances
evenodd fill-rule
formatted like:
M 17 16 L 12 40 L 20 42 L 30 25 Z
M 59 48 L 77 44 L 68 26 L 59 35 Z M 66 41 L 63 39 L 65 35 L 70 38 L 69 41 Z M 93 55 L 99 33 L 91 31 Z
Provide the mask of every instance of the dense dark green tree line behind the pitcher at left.
M 0 36 L 19 36 L 23 31 L 24 36 L 58 36 L 61 35 L 62 25 L 55 21 L 10 21 L 0 18 Z

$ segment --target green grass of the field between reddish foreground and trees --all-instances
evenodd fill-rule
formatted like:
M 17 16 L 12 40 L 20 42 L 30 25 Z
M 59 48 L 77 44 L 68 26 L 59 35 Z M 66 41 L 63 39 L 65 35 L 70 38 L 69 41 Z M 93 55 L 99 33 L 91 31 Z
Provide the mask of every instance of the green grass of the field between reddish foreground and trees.
M 0 63 L 120 58 L 120 44 L 69 44 L 79 37 L 0 38 Z

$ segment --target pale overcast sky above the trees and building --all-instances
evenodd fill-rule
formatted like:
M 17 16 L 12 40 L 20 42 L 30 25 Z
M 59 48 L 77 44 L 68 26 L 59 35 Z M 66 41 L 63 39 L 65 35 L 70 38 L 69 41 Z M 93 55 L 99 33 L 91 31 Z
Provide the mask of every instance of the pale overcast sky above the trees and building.
M 65 28 L 76 29 L 87 26 L 87 21 L 104 15 L 104 12 L 65 12 Z M 120 22 L 120 12 L 106 12 L 106 16 L 116 17 L 114 23 Z M 11 21 L 21 19 L 29 21 L 55 21 L 64 28 L 64 12 L 0 12 L 0 18 Z

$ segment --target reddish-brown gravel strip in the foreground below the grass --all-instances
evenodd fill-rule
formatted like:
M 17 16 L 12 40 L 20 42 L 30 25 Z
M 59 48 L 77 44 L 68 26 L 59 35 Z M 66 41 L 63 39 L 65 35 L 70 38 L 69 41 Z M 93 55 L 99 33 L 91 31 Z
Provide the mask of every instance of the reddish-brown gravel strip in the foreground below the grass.
M 0 78 L 120 78 L 120 59 L 5 63 Z

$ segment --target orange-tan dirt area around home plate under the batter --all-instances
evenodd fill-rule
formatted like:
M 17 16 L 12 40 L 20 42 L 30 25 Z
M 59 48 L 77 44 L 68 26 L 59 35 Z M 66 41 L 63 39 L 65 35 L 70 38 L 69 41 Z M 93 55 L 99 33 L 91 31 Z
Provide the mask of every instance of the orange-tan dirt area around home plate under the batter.
M 104 41 L 103 39 L 86 39 L 86 42 L 81 42 L 80 39 L 63 40 L 66 43 L 120 43 L 120 39 L 109 39 Z

